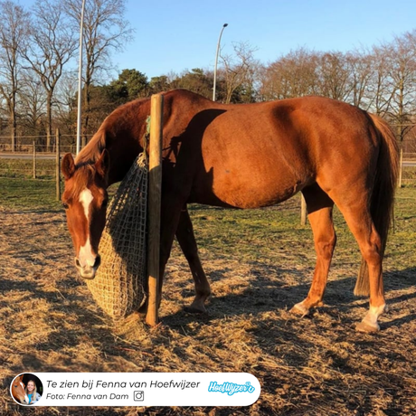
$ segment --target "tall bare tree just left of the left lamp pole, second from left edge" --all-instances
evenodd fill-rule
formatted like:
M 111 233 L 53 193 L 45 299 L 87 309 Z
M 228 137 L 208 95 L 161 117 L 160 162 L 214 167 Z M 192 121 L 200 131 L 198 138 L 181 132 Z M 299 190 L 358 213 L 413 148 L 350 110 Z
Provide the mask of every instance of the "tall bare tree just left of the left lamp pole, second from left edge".
M 51 147 L 53 94 L 64 65 L 76 50 L 76 37 L 66 21 L 60 0 L 36 0 L 33 6 L 31 42 L 22 51 L 39 76 L 46 93 L 46 148 Z

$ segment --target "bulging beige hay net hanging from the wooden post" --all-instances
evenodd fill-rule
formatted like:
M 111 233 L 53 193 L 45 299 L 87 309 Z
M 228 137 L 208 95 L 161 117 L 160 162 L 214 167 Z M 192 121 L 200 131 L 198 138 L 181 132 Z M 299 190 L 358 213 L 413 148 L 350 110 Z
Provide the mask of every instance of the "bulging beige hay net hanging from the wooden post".
M 95 279 L 87 280 L 92 297 L 110 317 L 127 317 L 145 298 L 147 160 L 137 156 L 109 204 Z

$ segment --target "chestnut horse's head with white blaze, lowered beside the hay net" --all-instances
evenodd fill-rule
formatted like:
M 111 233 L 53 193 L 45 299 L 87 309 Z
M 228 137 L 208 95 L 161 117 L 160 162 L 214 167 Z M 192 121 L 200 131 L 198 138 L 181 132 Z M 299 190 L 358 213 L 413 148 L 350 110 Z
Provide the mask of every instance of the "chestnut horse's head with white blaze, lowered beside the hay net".
M 62 159 L 65 190 L 62 203 L 75 248 L 75 265 L 83 279 L 94 279 L 99 268 L 99 239 L 106 222 L 109 152 L 95 164 L 75 165 L 71 154 Z

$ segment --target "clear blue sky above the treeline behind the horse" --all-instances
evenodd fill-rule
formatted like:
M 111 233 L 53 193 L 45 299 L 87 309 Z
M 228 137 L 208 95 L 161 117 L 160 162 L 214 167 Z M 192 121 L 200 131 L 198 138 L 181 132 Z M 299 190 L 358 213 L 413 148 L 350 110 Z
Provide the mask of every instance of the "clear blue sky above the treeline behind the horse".
M 118 71 L 136 69 L 149 79 L 213 70 L 224 23 L 222 53 L 231 54 L 233 43 L 250 43 L 265 64 L 298 47 L 346 52 L 416 29 L 415 0 L 128 0 L 127 5 L 135 40 L 113 54 L 113 63 Z

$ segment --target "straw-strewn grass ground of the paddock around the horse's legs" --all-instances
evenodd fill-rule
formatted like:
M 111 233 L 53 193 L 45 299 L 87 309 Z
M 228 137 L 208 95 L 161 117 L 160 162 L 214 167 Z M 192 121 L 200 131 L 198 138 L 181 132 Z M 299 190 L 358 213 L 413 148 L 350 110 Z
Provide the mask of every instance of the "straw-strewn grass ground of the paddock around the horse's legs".
M 326 305 L 298 318 L 315 266 L 299 199 L 264 210 L 190 209 L 212 283 L 208 313 L 184 312 L 194 285 L 175 245 L 162 323 L 115 324 L 75 277 L 71 238 L 51 181 L 0 178 L 0 414 L 416 414 L 416 189 L 399 190 L 384 261 L 390 311 L 376 335 L 355 332 L 368 299 L 352 290 L 357 245 L 336 211 L 338 242 Z M 28 317 L 31 317 L 30 319 Z M 35 325 L 33 325 L 33 319 Z M 12 402 L 21 372 L 248 372 L 261 384 L 249 408 L 36 408 Z

